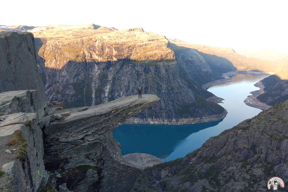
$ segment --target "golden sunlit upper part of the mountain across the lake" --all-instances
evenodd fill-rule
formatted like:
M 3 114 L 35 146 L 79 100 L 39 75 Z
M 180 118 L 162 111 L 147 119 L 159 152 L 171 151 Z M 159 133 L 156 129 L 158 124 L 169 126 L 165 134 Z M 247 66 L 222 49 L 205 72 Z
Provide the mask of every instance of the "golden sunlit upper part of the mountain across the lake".
M 38 54 L 46 61 L 53 58 L 99 62 L 121 59 L 175 61 L 166 37 L 144 32 L 142 28 L 117 30 L 95 24 L 61 25 L 35 27 L 29 32 L 45 42 L 46 45 L 39 47 Z M 52 52 L 50 47 L 57 49 Z

